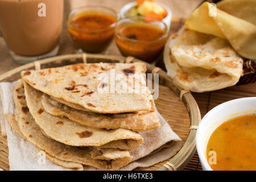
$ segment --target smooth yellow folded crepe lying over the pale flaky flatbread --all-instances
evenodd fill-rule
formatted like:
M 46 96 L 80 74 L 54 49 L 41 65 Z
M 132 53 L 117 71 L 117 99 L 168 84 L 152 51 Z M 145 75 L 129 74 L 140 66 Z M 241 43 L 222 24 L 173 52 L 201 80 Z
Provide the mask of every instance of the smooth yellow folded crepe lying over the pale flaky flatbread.
M 256 0 L 224 0 L 217 8 L 204 2 L 185 27 L 228 39 L 242 57 L 256 59 Z

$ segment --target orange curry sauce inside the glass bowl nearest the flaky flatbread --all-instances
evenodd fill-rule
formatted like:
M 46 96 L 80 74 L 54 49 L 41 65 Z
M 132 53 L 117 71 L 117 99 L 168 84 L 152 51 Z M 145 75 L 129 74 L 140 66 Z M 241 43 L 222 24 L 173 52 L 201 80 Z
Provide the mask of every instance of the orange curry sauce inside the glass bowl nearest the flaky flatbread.
M 160 28 L 139 24 L 122 27 L 118 34 L 115 42 L 122 55 L 134 56 L 148 62 L 154 61 L 162 53 L 167 39 L 162 39 L 165 32 Z

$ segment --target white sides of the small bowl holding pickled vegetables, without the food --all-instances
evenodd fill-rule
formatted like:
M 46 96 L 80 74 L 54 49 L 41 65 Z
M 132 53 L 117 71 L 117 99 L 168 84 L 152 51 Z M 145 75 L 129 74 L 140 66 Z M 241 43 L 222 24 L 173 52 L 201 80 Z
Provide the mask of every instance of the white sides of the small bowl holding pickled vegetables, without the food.
M 156 2 L 156 3 L 158 3 L 158 4 L 159 4 L 160 6 L 162 6 L 164 9 L 166 9 L 166 11 L 167 11 L 168 14 L 167 14 L 166 18 L 164 18 L 162 21 L 163 21 L 164 23 L 166 23 L 167 26 L 170 27 L 170 26 L 171 26 L 171 19 L 172 19 L 172 11 L 171 11 L 170 7 L 164 5 L 164 4 L 160 3 L 160 2 Z M 121 16 L 121 18 L 126 18 L 126 17 L 125 17 L 126 11 L 130 10 L 130 8 L 133 7 L 133 6 L 135 6 L 135 5 L 136 5 L 136 2 L 130 2 L 130 3 L 126 4 L 125 6 L 123 6 L 122 9 L 120 10 L 120 16 Z

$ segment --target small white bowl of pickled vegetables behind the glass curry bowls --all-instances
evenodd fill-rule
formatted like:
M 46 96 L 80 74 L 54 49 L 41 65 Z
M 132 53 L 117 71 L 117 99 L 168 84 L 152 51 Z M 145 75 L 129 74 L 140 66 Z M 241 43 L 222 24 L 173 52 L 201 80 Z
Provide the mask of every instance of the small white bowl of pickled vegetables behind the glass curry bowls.
M 170 26 L 172 11 L 170 7 L 154 0 L 137 0 L 123 6 L 120 10 L 120 15 L 121 18 L 148 16 L 162 20 L 167 26 Z

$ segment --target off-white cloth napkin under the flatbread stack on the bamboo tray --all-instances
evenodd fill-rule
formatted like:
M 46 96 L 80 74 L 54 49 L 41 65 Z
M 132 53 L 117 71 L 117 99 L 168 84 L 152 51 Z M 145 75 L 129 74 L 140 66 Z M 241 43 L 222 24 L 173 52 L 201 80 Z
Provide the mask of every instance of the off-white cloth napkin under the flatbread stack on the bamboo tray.
M 42 163 L 40 152 L 33 144 L 16 134 L 11 129 L 3 114 L 14 114 L 13 88 L 16 83 L 1 82 L 1 129 L 5 126 L 7 142 L 9 147 L 10 170 L 68 170 L 52 163 L 49 159 Z M 144 141 L 140 147 L 131 151 L 132 162 L 121 170 L 131 170 L 137 167 L 149 167 L 163 160 L 170 159 L 180 150 L 182 141 L 172 131 L 171 127 L 158 113 L 161 126 L 158 129 L 141 132 Z M 152 151 L 163 146 L 169 141 L 174 141 L 172 146 L 164 148 L 155 154 L 149 155 Z M 147 156 L 148 155 L 148 156 Z M 144 157 L 146 156 L 146 157 Z M 143 158 L 144 157 L 144 158 Z M 84 167 L 85 170 L 94 170 L 93 167 Z

